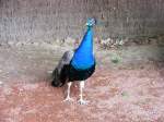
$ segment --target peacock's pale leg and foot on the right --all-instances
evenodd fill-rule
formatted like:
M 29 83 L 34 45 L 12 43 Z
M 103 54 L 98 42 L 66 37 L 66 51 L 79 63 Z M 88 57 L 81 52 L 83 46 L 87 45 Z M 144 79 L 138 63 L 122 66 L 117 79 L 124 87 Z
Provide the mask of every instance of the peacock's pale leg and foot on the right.
M 80 105 L 87 105 L 89 101 L 83 99 L 83 88 L 84 88 L 84 81 L 81 81 L 80 82 L 80 95 L 79 95 L 80 99 L 78 100 L 78 102 Z

